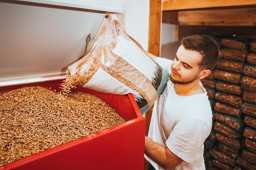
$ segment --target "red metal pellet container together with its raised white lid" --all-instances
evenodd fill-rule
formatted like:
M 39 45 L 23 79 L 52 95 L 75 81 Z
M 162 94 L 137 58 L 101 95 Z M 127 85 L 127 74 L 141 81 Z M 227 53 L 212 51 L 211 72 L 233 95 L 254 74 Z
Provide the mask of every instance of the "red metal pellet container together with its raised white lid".
M 0 92 L 24 86 L 60 86 L 66 67 L 92 48 L 104 27 L 101 23 L 110 19 L 110 13 L 122 11 L 86 3 L 0 2 L 0 15 L 4 16 L 0 20 Z M 89 34 L 92 41 L 87 44 Z M 100 97 L 128 121 L 6 164 L 0 170 L 143 170 L 146 119 L 133 95 L 86 88 L 73 91 Z

